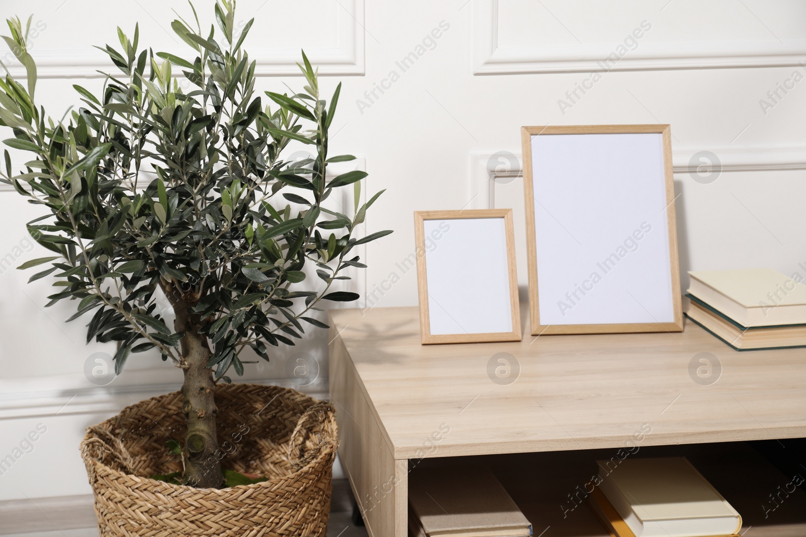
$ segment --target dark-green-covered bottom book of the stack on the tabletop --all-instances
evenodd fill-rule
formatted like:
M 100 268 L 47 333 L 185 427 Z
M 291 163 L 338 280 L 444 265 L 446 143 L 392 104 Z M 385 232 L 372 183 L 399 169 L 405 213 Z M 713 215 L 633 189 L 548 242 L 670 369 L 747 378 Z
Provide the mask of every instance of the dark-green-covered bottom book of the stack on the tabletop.
M 736 350 L 788 349 L 806 346 L 806 324 L 743 326 L 695 295 L 686 316 Z

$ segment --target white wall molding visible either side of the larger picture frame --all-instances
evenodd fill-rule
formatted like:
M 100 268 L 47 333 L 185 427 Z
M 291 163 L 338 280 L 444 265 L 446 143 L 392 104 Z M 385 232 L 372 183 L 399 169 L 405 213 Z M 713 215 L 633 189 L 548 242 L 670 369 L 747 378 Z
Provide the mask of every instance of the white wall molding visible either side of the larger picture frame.
M 806 147 L 721 147 L 708 150 L 717 155 L 720 163 L 696 160 L 701 149 L 672 150 L 672 167 L 675 174 L 721 169 L 721 171 L 783 171 L 806 170 Z M 495 209 L 495 182 L 519 177 L 523 173 L 521 151 L 486 151 L 472 153 L 471 180 L 468 209 Z M 509 182 L 509 181 L 508 181 Z

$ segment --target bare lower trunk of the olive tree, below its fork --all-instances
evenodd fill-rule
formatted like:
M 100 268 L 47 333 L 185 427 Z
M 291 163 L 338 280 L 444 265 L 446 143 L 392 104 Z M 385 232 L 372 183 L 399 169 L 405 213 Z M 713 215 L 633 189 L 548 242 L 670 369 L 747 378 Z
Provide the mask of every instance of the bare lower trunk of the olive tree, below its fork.
M 218 460 L 218 437 L 216 436 L 215 418 L 218 409 L 215 407 L 215 382 L 213 371 L 207 368 L 210 349 L 204 336 L 197 333 L 186 333 L 187 353 L 185 361 L 185 383 L 182 395 L 185 403 L 182 411 L 188 423 L 188 434 L 185 436 L 185 482 L 188 485 L 212 489 L 224 483 L 221 465 Z M 184 349 L 183 349 L 184 350 Z

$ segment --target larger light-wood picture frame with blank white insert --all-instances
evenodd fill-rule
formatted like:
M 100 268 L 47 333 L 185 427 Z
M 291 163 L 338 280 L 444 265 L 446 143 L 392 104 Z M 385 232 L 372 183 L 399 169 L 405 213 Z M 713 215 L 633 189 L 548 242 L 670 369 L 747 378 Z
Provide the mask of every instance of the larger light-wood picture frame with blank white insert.
M 670 138 L 521 129 L 533 335 L 683 330 Z

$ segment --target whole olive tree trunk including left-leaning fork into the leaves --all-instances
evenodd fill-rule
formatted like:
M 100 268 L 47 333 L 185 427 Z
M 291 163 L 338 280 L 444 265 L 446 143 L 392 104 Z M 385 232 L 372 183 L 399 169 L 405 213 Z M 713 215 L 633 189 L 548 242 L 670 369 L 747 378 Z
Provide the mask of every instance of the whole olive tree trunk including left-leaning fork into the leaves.
M 200 489 L 220 488 L 224 484 L 224 476 L 218 459 L 215 382 L 213 370 L 207 367 L 210 346 L 207 345 L 207 338 L 199 333 L 202 319 L 190 311 L 198 297 L 185 295 L 164 279 L 160 280 L 160 287 L 176 314 L 174 329 L 177 333 L 185 333 L 181 341 L 182 370 L 185 372 L 182 412 L 188 424 L 188 434 L 185 435 L 182 448 L 185 484 Z

